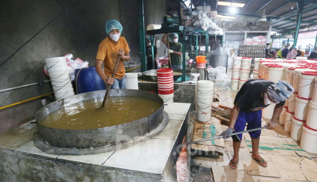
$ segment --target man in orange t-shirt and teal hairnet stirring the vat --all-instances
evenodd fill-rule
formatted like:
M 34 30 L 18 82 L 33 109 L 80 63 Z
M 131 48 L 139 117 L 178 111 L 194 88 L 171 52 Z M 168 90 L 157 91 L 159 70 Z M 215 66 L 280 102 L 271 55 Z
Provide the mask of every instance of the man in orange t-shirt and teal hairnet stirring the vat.
M 122 89 L 126 87 L 125 69 L 123 61 L 130 60 L 130 49 L 124 37 L 121 37 L 122 25 L 117 20 L 109 20 L 106 23 L 106 32 L 109 37 L 103 39 L 99 44 L 96 57 L 96 71 L 106 84 L 111 85 L 111 89 Z M 112 78 L 114 66 L 118 56 L 121 59 L 117 71 Z M 104 64 L 104 70 L 102 70 Z

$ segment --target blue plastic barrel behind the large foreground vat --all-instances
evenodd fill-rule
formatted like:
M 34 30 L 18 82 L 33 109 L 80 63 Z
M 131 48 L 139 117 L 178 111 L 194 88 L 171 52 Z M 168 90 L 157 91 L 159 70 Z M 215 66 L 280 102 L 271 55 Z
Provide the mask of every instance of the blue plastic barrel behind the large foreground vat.
M 98 75 L 95 67 L 83 68 L 75 70 L 75 80 L 77 94 L 92 92 L 96 90 L 105 90 L 106 84 Z M 77 73 L 78 78 L 77 78 Z

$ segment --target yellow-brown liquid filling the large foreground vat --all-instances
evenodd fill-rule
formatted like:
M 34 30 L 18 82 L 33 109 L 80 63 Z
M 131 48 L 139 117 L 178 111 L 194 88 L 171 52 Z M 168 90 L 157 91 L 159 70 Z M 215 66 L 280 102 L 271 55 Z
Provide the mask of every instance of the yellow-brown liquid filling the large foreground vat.
M 160 107 L 156 101 L 133 96 L 108 97 L 105 107 L 100 107 L 101 99 L 63 107 L 45 116 L 40 123 L 51 128 L 88 130 L 144 118 Z

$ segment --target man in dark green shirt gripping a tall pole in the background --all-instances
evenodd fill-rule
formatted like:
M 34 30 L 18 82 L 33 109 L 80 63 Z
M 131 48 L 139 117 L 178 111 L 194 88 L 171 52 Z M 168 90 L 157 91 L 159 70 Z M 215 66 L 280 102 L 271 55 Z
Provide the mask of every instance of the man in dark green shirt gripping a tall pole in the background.
M 170 49 L 167 50 L 167 53 L 171 55 L 172 69 L 183 69 L 183 45 L 178 42 L 178 34 L 170 33 L 169 40 L 167 40 L 167 34 L 165 34 L 162 38 L 162 42 L 167 45 L 167 41 L 170 42 Z

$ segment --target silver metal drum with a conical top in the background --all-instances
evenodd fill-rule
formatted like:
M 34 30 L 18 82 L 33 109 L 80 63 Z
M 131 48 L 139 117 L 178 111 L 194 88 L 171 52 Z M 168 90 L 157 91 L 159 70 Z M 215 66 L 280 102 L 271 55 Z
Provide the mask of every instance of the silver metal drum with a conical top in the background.
M 220 45 L 211 55 L 209 58 L 209 65 L 213 68 L 218 66 L 226 67 L 226 73 L 228 70 L 228 54 Z

